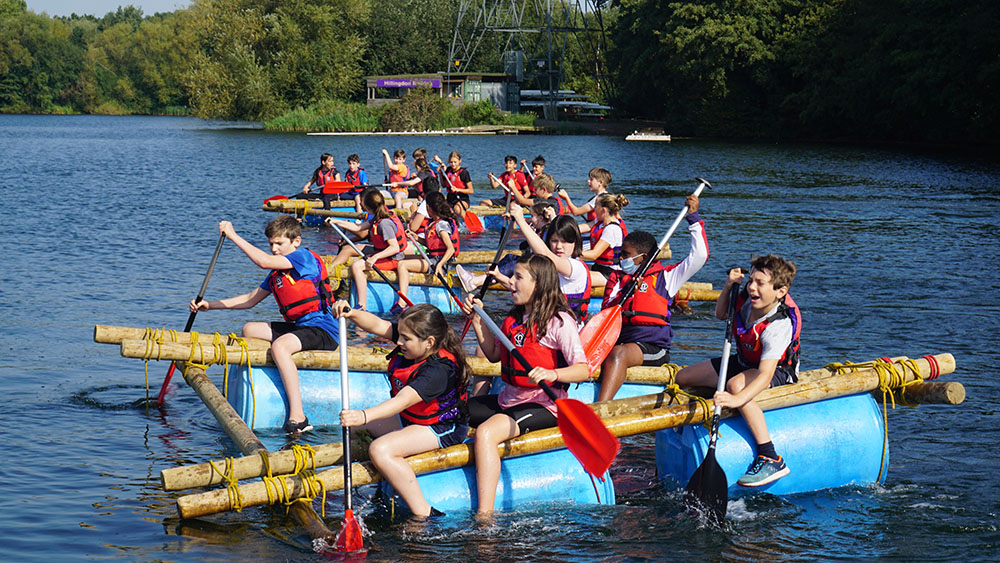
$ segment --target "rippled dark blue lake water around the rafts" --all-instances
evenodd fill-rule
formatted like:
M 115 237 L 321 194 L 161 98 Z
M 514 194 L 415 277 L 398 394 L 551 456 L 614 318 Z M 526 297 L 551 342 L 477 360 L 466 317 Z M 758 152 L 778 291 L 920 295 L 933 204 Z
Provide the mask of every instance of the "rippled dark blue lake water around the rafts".
M 477 189 L 487 172 L 502 170 L 504 155 L 543 154 L 578 202 L 587 197 L 588 170 L 607 168 L 612 191 L 632 200 L 624 212 L 630 227 L 654 233 L 703 176 L 714 186 L 702 196 L 711 257 L 695 281 L 718 287 L 751 252 L 785 255 L 799 268 L 792 289 L 805 318 L 804 369 L 950 352 L 958 369 L 946 378 L 961 381 L 968 398 L 957 407 L 890 411 L 884 486 L 749 497 L 731 502 L 722 529 L 705 527 L 678 517 L 680 495 L 657 483 L 653 439 L 640 436 L 625 441 L 612 470 L 617 505 L 537 506 L 502 513 L 493 526 L 450 514 L 421 530 L 369 518 L 369 559 L 1000 557 L 997 160 L 907 148 L 309 137 L 186 118 L 0 116 L 0 559 L 321 560 L 280 512 L 176 519 L 176 497 L 159 489 L 160 470 L 232 455 L 232 447 L 183 384 L 162 410 L 133 406 L 146 394 L 142 363 L 93 343 L 93 326 L 180 329 L 220 219 L 263 244 L 273 215 L 261 201 L 295 193 L 320 153 L 333 153 L 341 169 L 348 154 L 360 154 L 374 181 L 382 148 L 417 146 L 442 158 L 461 151 Z M 309 230 L 304 241 L 328 253 L 329 237 Z M 487 232 L 470 244 L 495 241 Z M 682 235 L 673 242 L 679 259 L 687 242 Z M 227 244 L 208 297 L 242 293 L 261 278 Z M 502 298 L 494 300 L 501 310 Z M 710 311 L 700 304 L 676 321 L 675 362 L 717 353 L 723 326 Z M 195 329 L 228 333 L 276 317 L 268 302 L 202 313 Z M 166 367 L 150 363 L 151 393 Z M 330 430 L 313 439 L 338 437 Z M 363 517 L 370 509 L 363 494 L 359 509 Z M 331 495 L 332 529 L 342 514 Z

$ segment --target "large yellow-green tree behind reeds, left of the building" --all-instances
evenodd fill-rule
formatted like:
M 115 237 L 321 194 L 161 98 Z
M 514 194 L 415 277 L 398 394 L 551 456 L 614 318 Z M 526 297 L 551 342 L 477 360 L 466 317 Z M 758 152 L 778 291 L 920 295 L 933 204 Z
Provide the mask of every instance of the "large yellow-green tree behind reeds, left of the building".
M 362 87 L 357 26 L 368 0 L 202 0 L 186 74 L 201 117 L 267 119 Z

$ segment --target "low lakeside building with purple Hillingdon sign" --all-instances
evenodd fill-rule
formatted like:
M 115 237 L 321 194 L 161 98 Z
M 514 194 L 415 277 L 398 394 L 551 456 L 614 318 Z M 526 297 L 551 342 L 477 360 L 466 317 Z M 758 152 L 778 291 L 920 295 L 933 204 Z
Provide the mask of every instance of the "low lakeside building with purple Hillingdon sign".
M 412 88 L 430 88 L 442 98 L 464 102 L 489 100 L 503 111 L 520 111 L 520 86 L 516 77 L 503 73 L 366 76 L 365 86 L 369 106 L 398 102 Z

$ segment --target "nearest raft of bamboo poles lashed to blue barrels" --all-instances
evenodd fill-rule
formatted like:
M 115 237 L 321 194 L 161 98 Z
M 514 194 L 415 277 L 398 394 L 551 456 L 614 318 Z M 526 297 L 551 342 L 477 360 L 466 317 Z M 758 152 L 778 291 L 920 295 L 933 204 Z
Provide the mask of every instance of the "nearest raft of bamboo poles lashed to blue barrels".
M 227 352 L 213 348 L 202 350 L 200 355 L 195 354 L 190 341 L 181 342 L 185 338 L 190 340 L 186 334 L 179 335 L 176 343 L 157 343 L 154 346 L 132 338 L 140 330 L 121 329 L 116 336 L 99 337 L 98 327 L 95 340 L 118 340 L 122 355 L 128 357 L 173 360 L 195 357 L 200 364 L 210 365 L 224 362 L 224 356 L 240 356 L 240 349 L 235 346 L 230 346 Z M 233 414 L 240 423 L 252 423 L 257 428 L 263 428 L 265 424 L 277 428 L 284 421 L 284 400 L 280 398 L 280 384 L 277 383 L 280 380 L 274 375 L 274 368 L 267 365 L 265 346 L 266 343 L 253 343 L 252 353 L 243 349 L 242 353 L 254 367 L 230 369 L 228 405 L 234 408 Z M 383 371 L 385 359 L 381 356 L 381 353 L 371 350 L 351 350 L 349 377 L 352 406 L 371 406 L 388 396 Z M 303 378 L 302 394 L 310 420 L 317 425 L 335 424 L 340 397 L 339 371 L 333 373 L 333 370 L 338 367 L 339 356 L 335 352 L 302 352 L 296 354 L 294 359 Z M 188 372 L 198 376 L 203 369 L 199 365 L 185 370 L 185 379 L 193 377 Z M 477 363 L 473 369 L 478 375 L 489 374 L 490 370 L 493 374 L 499 372 L 496 364 L 488 362 Z M 656 433 L 657 468 L 663 482 L 670 487 L 683 486 L 704 460 L 708 438 L 701 425 L 712 411 L 710 401 L 681 393 L 678 389 L 663 390 L 667 382 L 672 381 L 671 371 L 674 369 L 632 368 L 626 386 L 615 400 L 591 405 L 608 430 L 616 436 Z M 796 384 L 765 390 L 755 400 L 765 411 L 768 429 L 791 473 L 762 488 L 745 489 L 735 485 L 735 480 L 743 474 L 752 459 L 752 438 L 738 412 L 724 410 L 725 420 L 716 456 L 731 485 L 730 493 L 794 494 L 841 486 L 867 486 L 884 481 L 889 460 L 886 405 L 889 402 L 960 404 L 965 396 L 961 384 L 932 381 L 954 369 L 954 358 L 950 354 L 928 355 L 917 360 L 894 358 L 861 364 L 845 362 L 803 372 Z M 201 376 L 204 376 L 203 371 Z M 594 388 L 588 385 L 596 383 L 587 382 L 578 386 L 576 396 L 580 400 L 587 401 L 594 397 Z M 641 393 L 641 390 L 653 392 L 626 396 Z M 321 404 L 333 406 L 317 406 Z M 220 424 L 224 427 L 233 424 L 233 416 L 220 415 L 218 411 L 221 410 L 224 409 L 218 406 L 212 408 Z M 265 422 L 262 418 L 264 413 L 272 410 L 276 414 L 266 415 L 271 418 Z M 606 474 L 603 480 L 591 482 L 589 475 L 565 449 L 557 428 L 518 436 L 502 444 L 501 448 L 504 459 L 497 509 L 519 509 L 538 502 L 615 502 L 611 475 Z M 270 454 L 274 460 L 280 455 L 282 453 Z M 245 477 L 259 476 L 259 458 L 256 462 L 246 459 L 256 464 L 258 473 L 251 472 Z M 475 509 L 475 470 L 469 465 L 470 460 L 470 441 L 407 458 L 418 474 L 425 497 L 433 506 L 446 512 Z M 336 461 L 323 462 L 326 465 L 330 463 Z M 614 471 L 613 467 L 611 471 Z M 357 486 L 381 481 L 377 471 L 366 462 L 355 464 L 353 473 Z M 282 486 L 289 491 L 300 491 L 298 496 L 308 496 L 306 480 L 319 480 L 326 490 L 333 490 L 343 487 L 342 474 L 341 469 L 333 467 L 314 475 L 286 475 L 280 479 L 284 483 Z M 215 478 L 220 477 L 216 475 Z M 166 482 L 166 477 L 164 479 Z M 204 484 L 209 483 L 189 486 Z M 274 502 L 267 491 L 269 486 L 273 487 L 259 482 L 241 485 L 238 505 Z M 234 494 L 230 490 L 219 489 L 181 497 L 178 499 L 178 510 L 185 518 L 230 510 L 237 506 Z

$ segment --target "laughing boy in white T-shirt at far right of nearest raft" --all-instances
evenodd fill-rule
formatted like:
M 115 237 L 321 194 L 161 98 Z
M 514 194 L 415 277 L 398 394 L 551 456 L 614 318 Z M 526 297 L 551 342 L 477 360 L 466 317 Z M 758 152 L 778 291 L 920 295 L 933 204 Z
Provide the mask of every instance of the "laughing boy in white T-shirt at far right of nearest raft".
M 760 487 L 789 473 L 785 460 L 774 449 L 764 411 L 754 397 L 764 389 L 799 379 L 802 315 L 788 295 L 795 272 L 795 264 L 773 254 L 756 258 L 750 267 L 749 281 L 733 307 L 736 316 L 732 339 L 736 354 L 729 359 L 726 391 L 716 393 L 715 404 L 739 409 L 756 442 L 757 457 L 746 475 L 736 482 L 744 487 Z M 717 318 L 729 318 L 730 289 L 734 284 L 738 287 L 743 278 L 740 268 L 729 271 L 715 303 Z M 722 358 L 715 358 L 688 366 L 677 373 L 677 384 L 715 387 L 721 365 Z

